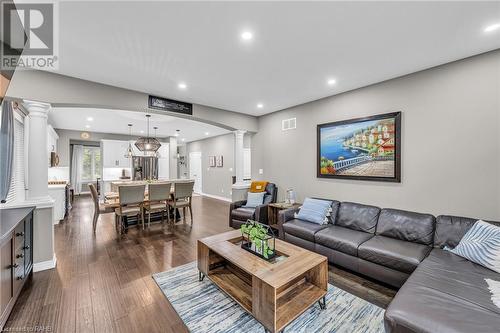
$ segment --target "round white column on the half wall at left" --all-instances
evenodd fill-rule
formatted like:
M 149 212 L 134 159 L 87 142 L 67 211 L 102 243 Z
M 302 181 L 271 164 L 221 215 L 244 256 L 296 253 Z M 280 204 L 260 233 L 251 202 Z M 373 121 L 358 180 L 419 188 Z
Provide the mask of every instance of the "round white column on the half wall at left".
M 49 197 L 48 192 L 48 153 L 47 153 L 47 115 L 50 104 L 23 102 L 28 111 L 28 199 L 40 200 Z

